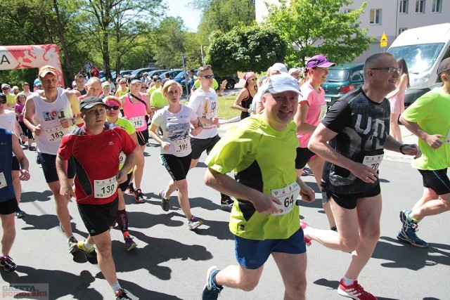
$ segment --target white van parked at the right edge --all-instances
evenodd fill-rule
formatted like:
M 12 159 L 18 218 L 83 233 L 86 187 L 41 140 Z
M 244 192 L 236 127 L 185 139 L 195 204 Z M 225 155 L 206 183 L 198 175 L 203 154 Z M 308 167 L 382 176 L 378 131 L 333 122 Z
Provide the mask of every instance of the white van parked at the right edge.
M 410 89 L 406 90 L 405 106 L 424 93 L 441 86 L 437 67 L 450 56 L 450 22 L 405 30 L 387 52 L 404 58 L 409 70 Z

